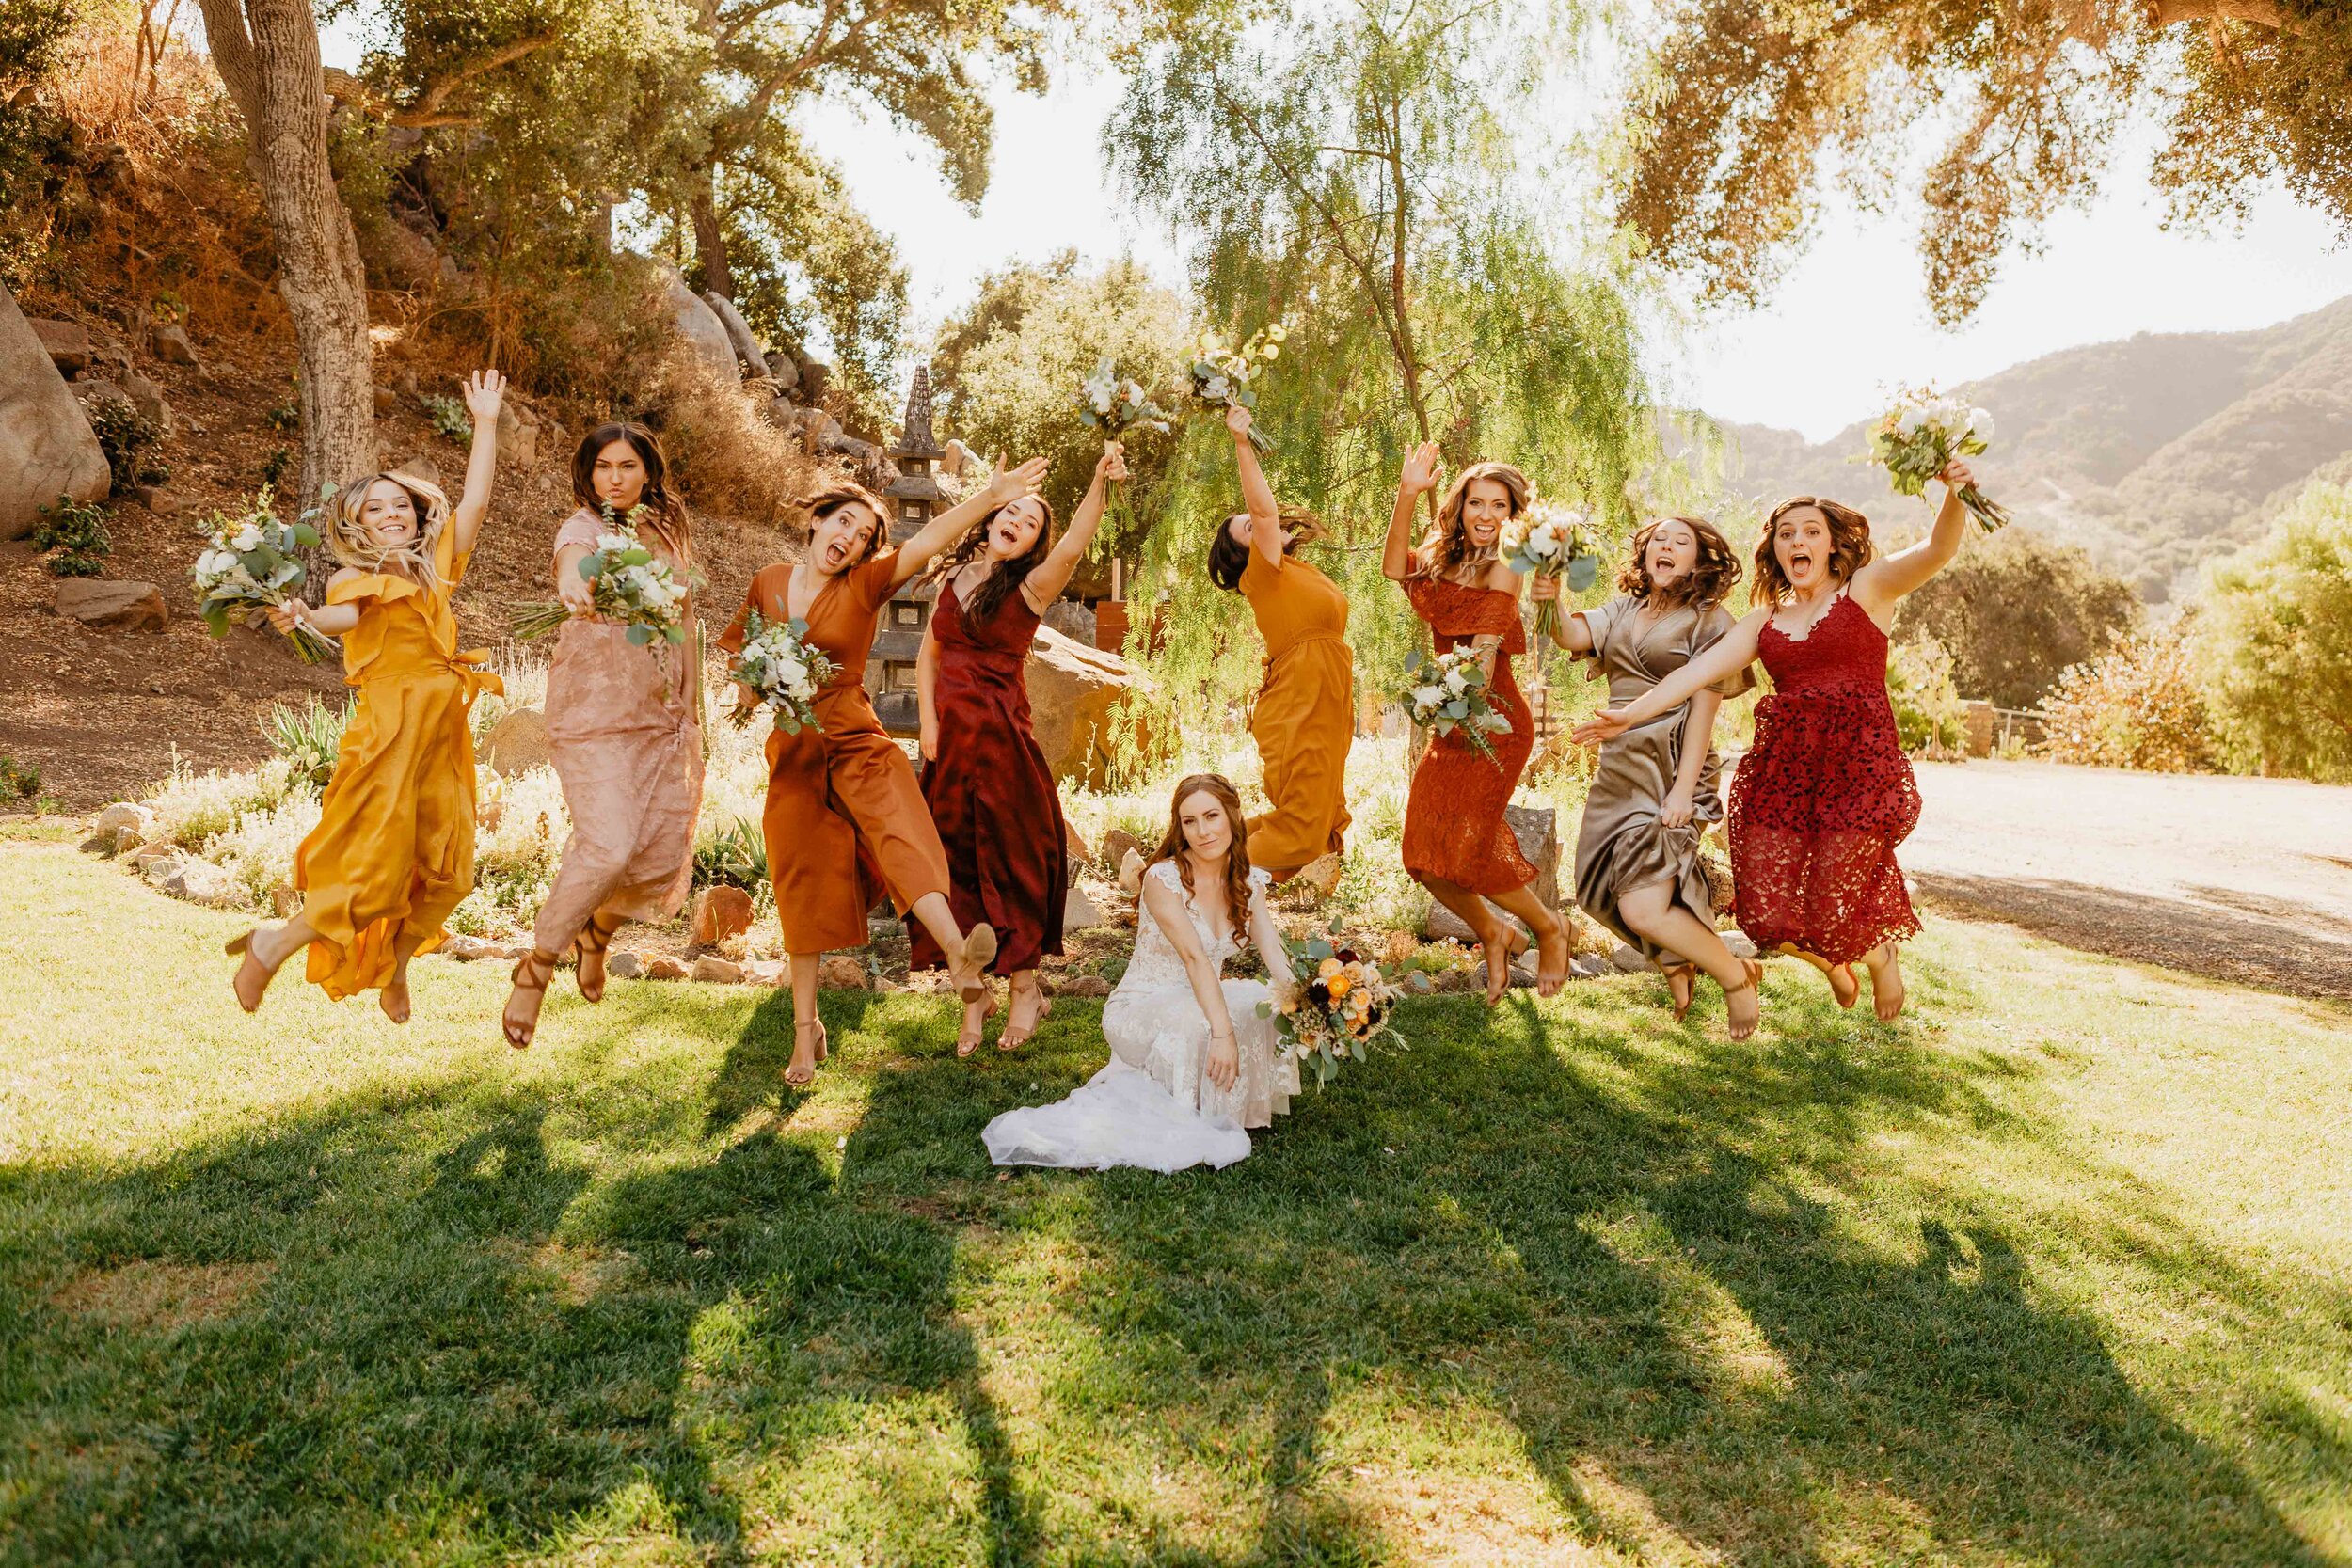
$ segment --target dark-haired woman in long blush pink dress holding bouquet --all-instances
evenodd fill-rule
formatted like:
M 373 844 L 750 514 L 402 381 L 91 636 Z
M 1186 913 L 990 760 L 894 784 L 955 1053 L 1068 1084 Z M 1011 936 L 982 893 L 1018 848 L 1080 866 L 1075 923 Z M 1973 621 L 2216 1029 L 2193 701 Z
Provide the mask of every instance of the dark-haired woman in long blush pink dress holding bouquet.
M 572 839 L 515 964 L 506 1044 L 532 1044 L 555 961 L 576 945 L 579 987 L 604 999 L 604 950 L 626 919 L 668 919 L 694 882 L 694 818 L 703 802 L 701 630 L 687 595 L 687 639 L 637 646 L 593 614 L 579 564 L 604 529 L 602 508 L 644 505 L 637 538 L 680 581 L 694 578 L 687 508 L 668 487 L 654 433 L 609 423 L 572 454 L 579 510 L 555 534 L 555 592 L 572 618 L 548 665 L 548 750 L 564 783 Z

